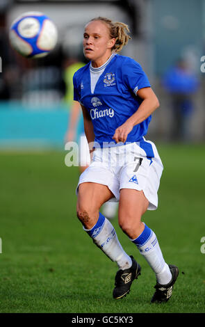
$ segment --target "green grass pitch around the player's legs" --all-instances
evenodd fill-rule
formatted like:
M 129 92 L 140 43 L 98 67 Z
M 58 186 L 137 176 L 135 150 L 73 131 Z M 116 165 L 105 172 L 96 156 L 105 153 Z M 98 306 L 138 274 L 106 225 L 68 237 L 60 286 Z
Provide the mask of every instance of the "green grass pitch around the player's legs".
M 76 219 L 78 168 L 65 152 L 1 152 L 0 312 L 205 312 L 205 146 L 161 145 L 159 207 L 143 221 L 167 263 L 179 266 L 170 301 L 149 303 L 155 276 L 117 225 L 127 253 L 142 266 L 131 293 L 112 298 L 117 266 Z

